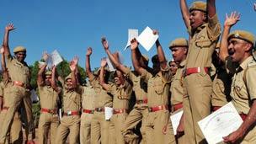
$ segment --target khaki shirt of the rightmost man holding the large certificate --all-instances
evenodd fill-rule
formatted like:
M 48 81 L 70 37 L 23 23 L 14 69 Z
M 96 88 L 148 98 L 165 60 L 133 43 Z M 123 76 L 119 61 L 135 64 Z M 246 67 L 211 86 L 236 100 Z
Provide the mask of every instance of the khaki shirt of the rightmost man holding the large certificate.
M 234 104 L 238 113 L 247 115 L 253 99 L 256 99 L 256 61 L 253 60 L 253 56 L 249 56 L 243 61 L 236 71 L 232 78 L 230 93 L 232 104 Z

